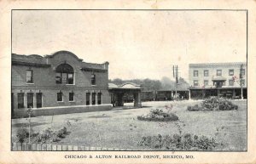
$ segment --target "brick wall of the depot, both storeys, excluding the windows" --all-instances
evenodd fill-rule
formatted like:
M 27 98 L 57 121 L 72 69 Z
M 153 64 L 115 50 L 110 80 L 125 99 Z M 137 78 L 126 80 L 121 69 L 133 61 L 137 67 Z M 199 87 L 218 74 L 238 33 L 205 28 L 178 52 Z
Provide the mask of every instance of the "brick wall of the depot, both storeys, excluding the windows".
M 26 94 L 34 93 L 33 104 L 36 107 L 36 93 L 42 93 L 43 107 L 85 105 L 85 93 L 102 93 L 102 104 L 110 104 L 108 93 L 108 63 L 89 64 L 82 63 L 75 55 L 61 52 L 46 58 L 50 67 L 35 67 L 26 65 L 12 65 L 12 93 L 14 95 L 14 109 L 18 108 L 18 93 L 25 93 L 24 104 L 26 106 Z M 67 63 L 73 67 L 74 84 L 56 84 L 55 69 L 58 65 Z M 105 71 L 82 71 L 82 67 L 99 66 Z M 26 83 L 26 70 L 32 70 L 33 82 Z M 91 74 L 96 75 L 96 85 L 91 85 Z M 57 102 L 57 93 L 63 93 L 63 102 Z M 68 101 L 68 93 L 74 93 L 74 101 Z

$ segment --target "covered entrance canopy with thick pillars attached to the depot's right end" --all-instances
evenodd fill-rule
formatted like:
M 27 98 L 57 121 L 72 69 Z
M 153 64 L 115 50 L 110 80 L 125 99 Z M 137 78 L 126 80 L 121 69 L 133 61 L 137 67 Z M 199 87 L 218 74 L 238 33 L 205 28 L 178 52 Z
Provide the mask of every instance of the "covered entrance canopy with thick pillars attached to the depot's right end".
M 140 85 L 133 82 L 126 82 L 121 85 L 108 83 L 108 91 L 111 95 L 111 103 L 113 107 L 124 106 L 124 96 L 132 95 L 135 107 L 142 107 L 142 89 Z

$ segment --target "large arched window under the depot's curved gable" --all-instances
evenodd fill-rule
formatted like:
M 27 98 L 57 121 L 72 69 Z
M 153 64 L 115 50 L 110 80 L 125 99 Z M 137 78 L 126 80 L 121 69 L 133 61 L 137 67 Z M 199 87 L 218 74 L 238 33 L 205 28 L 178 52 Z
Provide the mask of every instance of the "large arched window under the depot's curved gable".
M 58 65 L 55 80 L 57 84 L 73 84 L 73 67 L 67 64 Z

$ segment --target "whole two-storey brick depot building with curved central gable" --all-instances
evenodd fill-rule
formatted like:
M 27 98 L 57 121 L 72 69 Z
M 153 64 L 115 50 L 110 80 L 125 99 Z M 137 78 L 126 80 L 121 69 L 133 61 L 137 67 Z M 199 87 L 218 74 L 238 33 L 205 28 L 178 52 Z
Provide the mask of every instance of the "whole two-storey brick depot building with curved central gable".
M 68 51 L 12 54 L 11 90 L 13 116 L 25 116 L 29 107 L 35 116 L 111 108 L 108 62 L 86 63 Z

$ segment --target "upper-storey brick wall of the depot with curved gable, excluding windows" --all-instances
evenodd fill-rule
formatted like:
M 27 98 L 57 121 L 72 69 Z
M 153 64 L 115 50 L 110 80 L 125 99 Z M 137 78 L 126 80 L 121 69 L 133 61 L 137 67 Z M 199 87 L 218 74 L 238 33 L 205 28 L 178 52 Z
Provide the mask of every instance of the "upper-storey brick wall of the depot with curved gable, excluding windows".
M 92 87 L 90 83 L 90 76 L 92 72 L 81 71 L 81 61 L 74 59 L 73 56 L 67 54 L 57 55 L 49 59 L 50 67 L 32 67 L 12 65 L 12 86 L 13 87 L 67 87 L 67 84 L 55 83 L 55 68 L 58 65 L 67 63 L 73 67 L 74 71 L 74 84 L 71 87 L 87 87 L 87 88 L 104 88 L 108 89 L 108 71 L 94 72 L 96 74 L 96 86 Z M 104 65 L 104 64 L 102 64 Z M 26 84 L 26 70 L 33 71 L 33 84 Z

